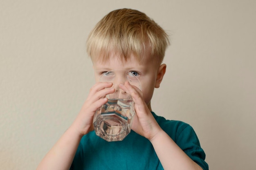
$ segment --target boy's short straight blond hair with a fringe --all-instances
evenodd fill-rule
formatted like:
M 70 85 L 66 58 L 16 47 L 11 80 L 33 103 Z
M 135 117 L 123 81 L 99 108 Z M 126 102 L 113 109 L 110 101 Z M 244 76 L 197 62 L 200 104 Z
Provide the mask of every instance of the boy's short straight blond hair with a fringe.
M 147 46 L 159 64 L 164 59 L 168 35 L 145 13 L 133 9 L 117 9 L 104 16 L 91 31 L 87 40 L 87 52 L 92 62 L 110 59 L 119 54 L 122 61 L 134 55 L 141 61 Z

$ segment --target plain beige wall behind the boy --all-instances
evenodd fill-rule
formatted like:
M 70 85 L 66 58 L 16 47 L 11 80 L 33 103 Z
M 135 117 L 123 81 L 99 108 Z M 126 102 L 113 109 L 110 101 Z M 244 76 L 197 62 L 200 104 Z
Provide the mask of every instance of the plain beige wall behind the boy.
M 171 37 L 155 113 L 195 129 L 211 170 L 255 169 L 255 0 L 0 0 L 0 169 L 36 169 L 70 126 L 94 84 L 86 38 L 124 7 Z

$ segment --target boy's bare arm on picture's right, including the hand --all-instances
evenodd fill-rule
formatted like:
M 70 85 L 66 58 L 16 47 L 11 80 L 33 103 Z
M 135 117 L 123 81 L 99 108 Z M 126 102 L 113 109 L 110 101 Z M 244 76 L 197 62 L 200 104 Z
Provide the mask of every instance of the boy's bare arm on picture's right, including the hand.
M 136 117 L 132 130 L 146 137 L 153 145 L 155 152 L 165 170 L 202 170 L 157 124 L 142 93 L 133 88 L 128 82 L 120 85 L 124 91 L 132 95 L 135 102 Z

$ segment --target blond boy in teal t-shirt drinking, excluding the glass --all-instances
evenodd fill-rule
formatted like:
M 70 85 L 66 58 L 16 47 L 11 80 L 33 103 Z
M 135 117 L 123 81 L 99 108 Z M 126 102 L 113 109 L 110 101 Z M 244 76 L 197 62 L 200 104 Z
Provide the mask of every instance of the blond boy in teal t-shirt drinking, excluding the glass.
M 166 71 L 162 60 L 168 44 L 165 31 L 140 11 L 119 9 L 106 15 L 87 41 L 97 83 L 37 170 L 208 170 L 191 126 L 159 117 L 150 106 L 154 88 L 159 88 Z M 137 76 L 142 91 L 128 82 L 119 85 L 132 95 L 136 115 L 123 141 L 107 142 L 95 135 L 92 119 L 107 102 L 105 96 L 115 91 L 112 83 L 99 82 L 99 78 L 115 69 Z

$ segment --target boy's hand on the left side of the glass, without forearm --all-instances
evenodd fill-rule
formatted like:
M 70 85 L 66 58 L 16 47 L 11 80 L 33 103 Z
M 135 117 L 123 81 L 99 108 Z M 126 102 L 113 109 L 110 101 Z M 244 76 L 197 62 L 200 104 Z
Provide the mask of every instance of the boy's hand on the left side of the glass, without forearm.
M 73 128 L 81 136 L 94 129 L 92 125 L 94 113 L 101 105 L 108 102 L 106 95 L 115 92 L 114 88 L 110 88 L 111 86 L 111 82 L 97 82 L 92 86 L 79 115 L 70 128 Z

